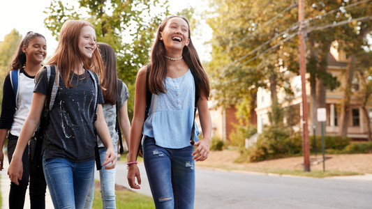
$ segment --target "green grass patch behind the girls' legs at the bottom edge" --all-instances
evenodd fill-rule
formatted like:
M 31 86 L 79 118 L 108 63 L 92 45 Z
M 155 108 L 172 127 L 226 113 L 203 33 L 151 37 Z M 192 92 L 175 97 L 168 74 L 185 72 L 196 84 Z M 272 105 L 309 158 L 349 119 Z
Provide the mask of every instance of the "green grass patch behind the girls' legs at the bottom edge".
M 154 201 L 150 196 L 131 191 L 116 191 L 117 209 L 153 209 L 155 208 Z M 102 208 L 101 192 L 94 191 L 94 201 L 92 208 Z

